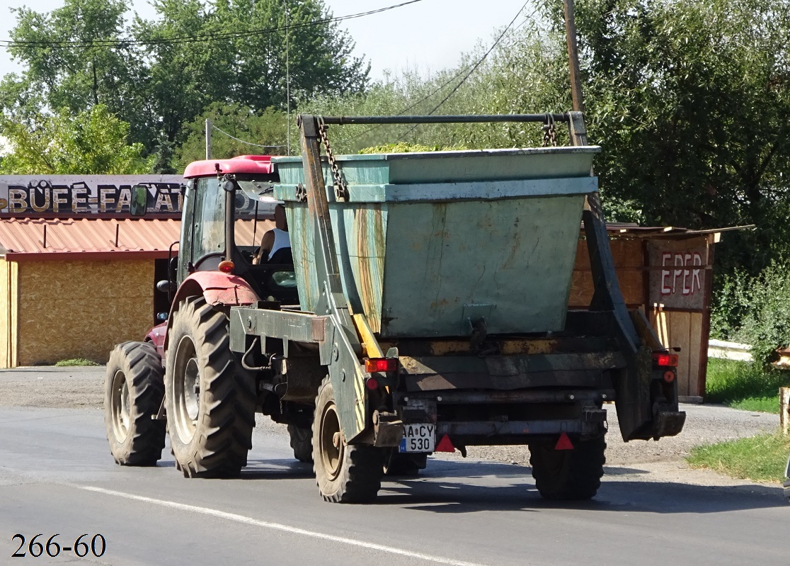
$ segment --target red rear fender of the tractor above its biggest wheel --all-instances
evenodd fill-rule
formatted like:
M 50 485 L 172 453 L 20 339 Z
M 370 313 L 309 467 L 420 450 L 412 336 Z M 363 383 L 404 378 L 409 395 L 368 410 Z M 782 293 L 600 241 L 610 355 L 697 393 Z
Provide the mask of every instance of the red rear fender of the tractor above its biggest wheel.
M 173 315 L 179 310 L 181 300 L 187 296 L 201 295 L 212 307 L 239 307 L 243 304 L 254 304 L 259 300 L 250 284 L 238 275 L 221 271 L 195 271 L 184 279 L 179 290 L 175 292 L 170 315 L 167 316 L 167 330 L 170 330 Z M 164 337 L 163 349 L 167 350 L 167 334 Z

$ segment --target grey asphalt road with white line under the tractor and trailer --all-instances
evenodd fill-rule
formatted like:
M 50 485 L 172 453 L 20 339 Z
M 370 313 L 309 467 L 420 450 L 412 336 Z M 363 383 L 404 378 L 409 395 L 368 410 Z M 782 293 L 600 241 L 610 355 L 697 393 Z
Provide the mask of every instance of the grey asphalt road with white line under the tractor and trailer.
M 100 409 L 0 407 L 0 564 L 769 566 L 790 557 L 778 486 L 674 480 L 650 464 L 610 467 L 595 500 L 555 504 L 540 499 L 529 467 L 431 458 L 419 478 L 385 481 L 377 504 L 352 506 L 324 503 L 282 428 L 263 421 L 240 479 L 186 479 L 164 454 L 156 468 L 116 466 Z M 40 533 L 72 547 L 101 534 L 106 550 L 31 557 Z M 15 534 L 25 538 L 21 560 L 11 557 Z

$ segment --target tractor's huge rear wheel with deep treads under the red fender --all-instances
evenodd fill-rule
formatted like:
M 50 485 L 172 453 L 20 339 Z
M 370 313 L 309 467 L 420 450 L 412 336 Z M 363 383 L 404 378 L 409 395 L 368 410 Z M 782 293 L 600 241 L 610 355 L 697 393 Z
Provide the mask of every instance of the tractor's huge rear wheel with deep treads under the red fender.
M 167 331 L 164 401 L 175 465 L 185 477 L 236 477 L 255 426 L 255 379 L 230 349 L 228 317 L 182 300 Z

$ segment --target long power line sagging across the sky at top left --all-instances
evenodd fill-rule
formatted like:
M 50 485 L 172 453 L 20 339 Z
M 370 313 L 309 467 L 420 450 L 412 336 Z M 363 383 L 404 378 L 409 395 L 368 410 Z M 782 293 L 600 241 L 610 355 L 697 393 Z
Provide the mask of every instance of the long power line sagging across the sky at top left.
M 376 13 L 386 12 L 390 9 L 401 8 L 423 0 L 408 0 L 408 2 L 401 2 L 393 6 L 385 6 L 383 8 L 371 9 L 367 12 L 352 13 L 346 16 L 338 17 L 325 17 L 318 20 L 304 22 L 302 24 L 295 24 L 290 26 L 276 26 L 273 28 L 259 28 L 248 30 L 246 32 L 215 32 L 203 33 L 195 36 L 179 36 L 167 39 L 158 40 L 69 40 L 69 41 L 13 41 L 13 40 L 0 40 L 0 47 L 131 47 L 134 45 L 163 45 L 163 44 L 179 44 L 179 43 L 194 43 L 197 41 L 214 41 L 214 40 L 232 40 L 239 37 L 261 36 L 268 33 L 279 32 L 287 28 L 309 28 L 314 25 L 324 25 L 338 21 L 353 20 L 358 17 L 371 16 Z

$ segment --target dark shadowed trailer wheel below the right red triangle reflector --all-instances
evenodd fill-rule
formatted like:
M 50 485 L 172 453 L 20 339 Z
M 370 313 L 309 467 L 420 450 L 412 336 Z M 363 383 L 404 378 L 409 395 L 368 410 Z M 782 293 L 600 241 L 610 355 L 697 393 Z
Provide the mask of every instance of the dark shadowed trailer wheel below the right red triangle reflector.
M 606 462 L 604 436 L 577 440 L 573 450 L 555 450 L 554 443 L 529 445 L 532 477 L 540 495 L 551 500 L 587 500 L 595 496 Z

